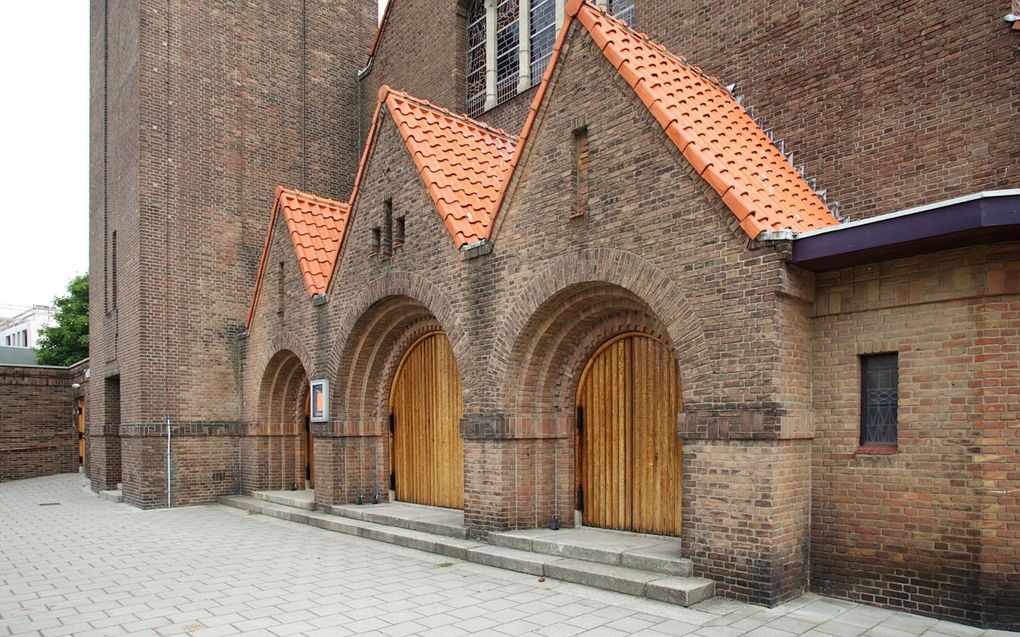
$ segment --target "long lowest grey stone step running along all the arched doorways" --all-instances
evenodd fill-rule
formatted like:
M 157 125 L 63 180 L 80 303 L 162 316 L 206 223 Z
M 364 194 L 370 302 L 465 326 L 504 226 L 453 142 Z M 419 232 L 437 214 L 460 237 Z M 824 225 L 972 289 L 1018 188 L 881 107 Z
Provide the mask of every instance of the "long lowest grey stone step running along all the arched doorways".
M 694 577 L 664 577 L 662 573 L 563 558 L 534 550 L 437 535 L 388 526 L 363 519 L 308 511 L 246 495 L 224 495 L 220 503 L 260 515 L 307 524 L 366 539 L 446 555 L 464 562 L 573 582 L 687 606 L 715 594 L 715 583 Z M 345 509 L 329 507 L 327 509 Z M 359 508 L 360 509 L 360 508 Z M 348 512 L 349 513 L 349 512 Z

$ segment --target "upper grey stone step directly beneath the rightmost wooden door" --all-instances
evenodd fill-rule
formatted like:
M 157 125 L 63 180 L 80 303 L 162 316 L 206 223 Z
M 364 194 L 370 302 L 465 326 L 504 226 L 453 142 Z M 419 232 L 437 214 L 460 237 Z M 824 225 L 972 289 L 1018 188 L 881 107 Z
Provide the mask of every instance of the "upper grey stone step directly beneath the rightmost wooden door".
M 490 533 L 489 541 L 507 548 L 662 575 L 691 577 L 694 573 L 694 564 L 680 555 L 680 540 L 675 537 L 592 528 L 526 529 Z

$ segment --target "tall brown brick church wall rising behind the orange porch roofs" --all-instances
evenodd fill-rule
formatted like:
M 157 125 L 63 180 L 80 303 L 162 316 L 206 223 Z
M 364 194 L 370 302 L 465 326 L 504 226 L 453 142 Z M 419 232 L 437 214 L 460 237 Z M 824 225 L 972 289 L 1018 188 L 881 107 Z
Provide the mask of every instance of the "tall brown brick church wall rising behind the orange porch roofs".
M 463 109 L 453 0 L 395 3 L 365 84 Z M 1005 0 L 635 0 L 636 28 L 740 93 L 851 218 L 1013 188 L 1020 87 Z M 422 44 L 424 43 L 424 44 Z M 413 62 L 412 62 L 413 60 Z M 512 132 L 532 92 L 482 119 Z M 368 111 L 370 116 L 370 111 Z

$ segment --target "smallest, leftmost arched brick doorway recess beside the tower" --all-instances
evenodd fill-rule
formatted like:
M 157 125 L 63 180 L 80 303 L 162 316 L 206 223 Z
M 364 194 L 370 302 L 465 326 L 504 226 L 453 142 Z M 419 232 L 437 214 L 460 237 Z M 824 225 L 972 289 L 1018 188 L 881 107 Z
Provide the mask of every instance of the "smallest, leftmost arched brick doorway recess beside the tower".
M 277 352 L 259 392 L 258 429 L 250 483 L 258 489 L 303 489 L 314 484 L 314 440 L 308 422 L 308 375 L 296 354 Z

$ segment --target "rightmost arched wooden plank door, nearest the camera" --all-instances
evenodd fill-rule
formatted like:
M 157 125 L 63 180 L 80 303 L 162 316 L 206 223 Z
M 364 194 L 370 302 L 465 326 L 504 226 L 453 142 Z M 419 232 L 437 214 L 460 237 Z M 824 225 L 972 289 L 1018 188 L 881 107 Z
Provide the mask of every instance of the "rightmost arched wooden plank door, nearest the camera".
M 603 344 L 577 390 L 578 506 L 585 525 L 680 533 L 680 388 L 669 348 L 628 333 Z

